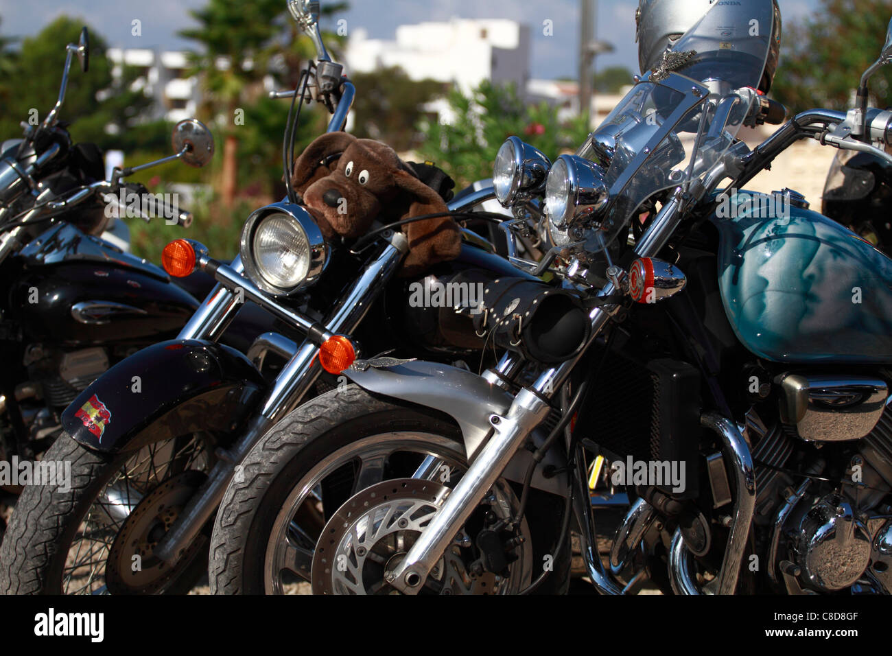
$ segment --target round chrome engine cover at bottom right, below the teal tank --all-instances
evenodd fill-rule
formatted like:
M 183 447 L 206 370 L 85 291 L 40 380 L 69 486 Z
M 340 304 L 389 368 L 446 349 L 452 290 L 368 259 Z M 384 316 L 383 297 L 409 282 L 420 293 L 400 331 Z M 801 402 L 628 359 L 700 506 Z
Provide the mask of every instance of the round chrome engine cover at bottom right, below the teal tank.
M 828 494 L 805 513 L 795 551 L 803 582 L 833 592 L 862 577 L 871 561 L 871 535 L 847 501 Z

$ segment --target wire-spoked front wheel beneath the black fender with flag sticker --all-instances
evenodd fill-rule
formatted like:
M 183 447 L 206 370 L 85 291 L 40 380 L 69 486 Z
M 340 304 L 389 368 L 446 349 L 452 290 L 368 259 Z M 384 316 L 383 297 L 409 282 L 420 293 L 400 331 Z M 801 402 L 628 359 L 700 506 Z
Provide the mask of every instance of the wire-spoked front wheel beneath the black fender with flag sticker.
M 0 548 L 0 592 L 186 593 L 204 570 L 207 537 L 173 566 L 152 551 L 206 478 L 209 439 L 183 436 L 112 456 L 60 436 L 44 461 L 70 474 L 59 486 L 25 486 Z

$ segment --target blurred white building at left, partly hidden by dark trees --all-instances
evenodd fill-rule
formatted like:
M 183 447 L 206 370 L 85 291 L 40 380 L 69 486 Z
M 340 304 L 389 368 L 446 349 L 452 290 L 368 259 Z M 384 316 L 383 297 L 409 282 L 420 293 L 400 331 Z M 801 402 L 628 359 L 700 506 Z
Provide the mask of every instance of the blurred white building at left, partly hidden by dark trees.
M 145 89 L 154 99 L 150 120 L 171 122 L 194 117 L 201 102 L 201 88 L 197 77 L 186 77 L 187 54 L 177 51 L 157 51 L 138 48 L 109 48 L 107 56 L 113 64 L 112 76 L 123 75 L 123 65 L 139 70 L 136 87 Z

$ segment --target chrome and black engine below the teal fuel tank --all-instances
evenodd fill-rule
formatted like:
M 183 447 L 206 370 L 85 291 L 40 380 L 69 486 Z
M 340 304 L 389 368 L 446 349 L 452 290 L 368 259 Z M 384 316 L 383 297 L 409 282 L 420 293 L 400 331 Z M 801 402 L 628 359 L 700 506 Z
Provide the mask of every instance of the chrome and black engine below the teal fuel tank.
M 883 401 L 856 440 L 804 444 L 795 425 L 747 418 L 757 541 L 781 591 L 892 593 L 892 403 Z

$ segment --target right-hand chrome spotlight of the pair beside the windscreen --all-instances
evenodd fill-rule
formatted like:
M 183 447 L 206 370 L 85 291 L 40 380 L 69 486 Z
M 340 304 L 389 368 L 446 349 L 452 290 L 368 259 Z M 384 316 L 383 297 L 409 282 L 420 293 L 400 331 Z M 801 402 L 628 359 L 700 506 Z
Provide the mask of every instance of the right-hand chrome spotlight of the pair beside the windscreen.
M 601 166 L 582 157 L 558 157 L 545 186 L 545 211 L 554 228 L 564 230 L 607 207 L 610 194 L 604 174 Z

